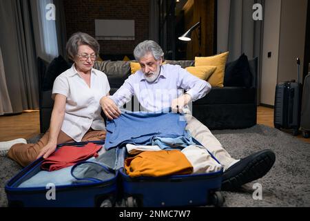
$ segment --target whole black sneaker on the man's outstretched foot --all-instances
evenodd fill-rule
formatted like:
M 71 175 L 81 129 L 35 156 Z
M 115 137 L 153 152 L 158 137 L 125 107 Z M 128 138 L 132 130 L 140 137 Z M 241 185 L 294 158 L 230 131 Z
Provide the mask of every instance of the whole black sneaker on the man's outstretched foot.
M 268 173 L 276 160 L 271 150 L 260 151 L 240 160 L 223 174 L 222 190 L 234 191 Z

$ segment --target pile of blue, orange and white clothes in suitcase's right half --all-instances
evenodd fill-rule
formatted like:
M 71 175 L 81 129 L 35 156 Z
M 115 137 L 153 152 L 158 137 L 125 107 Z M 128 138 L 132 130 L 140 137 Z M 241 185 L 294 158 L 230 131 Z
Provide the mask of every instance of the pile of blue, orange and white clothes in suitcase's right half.
M 223 167 L 206 148 L 197 145 L 185 130 L 182 113 L 171 109 L 158 113 L 123 111 L 107 122 L 105 148 L 126 146 L 132 157 L 125 159 L 130 177 L 213 173 Z M 130 125 L 130 129 L 124 130 Z

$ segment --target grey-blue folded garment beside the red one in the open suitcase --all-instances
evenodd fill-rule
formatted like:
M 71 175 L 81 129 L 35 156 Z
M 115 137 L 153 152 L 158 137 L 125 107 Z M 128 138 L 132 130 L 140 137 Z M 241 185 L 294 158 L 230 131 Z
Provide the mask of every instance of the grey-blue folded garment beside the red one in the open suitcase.
M 116 170 L 123 166 L 124 150 L 112 148 L 94 160 L 80 162 L 71 169 L 71 174 L 80 182 L 99 182 L 110 180 L 116 176 Z

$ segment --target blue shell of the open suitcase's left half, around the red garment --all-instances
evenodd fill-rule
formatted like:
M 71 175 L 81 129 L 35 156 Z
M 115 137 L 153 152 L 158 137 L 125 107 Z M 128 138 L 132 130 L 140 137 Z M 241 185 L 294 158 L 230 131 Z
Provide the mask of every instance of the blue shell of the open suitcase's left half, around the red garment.
M 57 146 L 61 148 L 64 145 L 85 146 L 88 142 L 61 144 Z M 97 145 L 104 142 L 92 142 Z M 123 159 L 122 149 L 116 149 L 116 159 Z M 26 207 L 67 207 L 67 206 L 113 206 L 117 199 L 118 189 L 118 171 L 115 171 L 113 177 L 108 180 L 92 180 L 91 182 L 76 182 L 65 185 L 54 186 L 54 199 L 47 197 L 52 188 L 51 186 L 34 186 L 23 187 L 19 186 L 29 180 L 31 177 L 41 171 L 41 163 L 43 158 L 34 161 L 29 166 L 25 167 L 16 176 L 14 176 L 5 187 L 8 198 L 8 206 L 26 206 Z M 123 162 L 116 162 L 123 164 Z

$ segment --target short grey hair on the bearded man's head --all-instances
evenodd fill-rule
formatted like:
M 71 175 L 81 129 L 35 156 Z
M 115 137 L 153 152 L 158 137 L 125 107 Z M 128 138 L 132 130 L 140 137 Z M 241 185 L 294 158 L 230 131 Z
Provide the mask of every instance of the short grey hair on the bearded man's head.
M 164 56 L 164 52 L 161 49 L 161 46 L 159 46 L 155 41 L 146 40 L 134 48 L 134 57 L 137 61 L 140 61 L 140 59 L 147 55 L 149 52 L 152 53 L 156 61 L 163 58 Z

